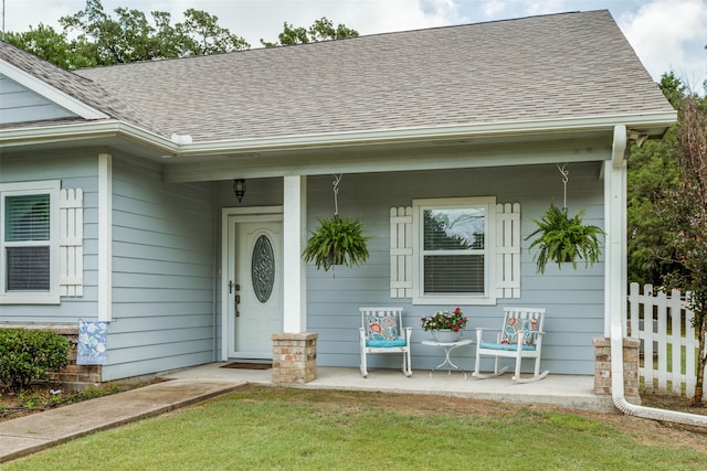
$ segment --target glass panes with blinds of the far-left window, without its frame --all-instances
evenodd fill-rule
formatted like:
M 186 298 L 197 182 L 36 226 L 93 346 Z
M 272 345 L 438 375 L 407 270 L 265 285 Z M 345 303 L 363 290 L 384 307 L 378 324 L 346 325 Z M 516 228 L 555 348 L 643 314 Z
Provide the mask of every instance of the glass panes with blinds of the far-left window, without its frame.
M 4 196 L 6 291 L 50 290 L 50 195 Z

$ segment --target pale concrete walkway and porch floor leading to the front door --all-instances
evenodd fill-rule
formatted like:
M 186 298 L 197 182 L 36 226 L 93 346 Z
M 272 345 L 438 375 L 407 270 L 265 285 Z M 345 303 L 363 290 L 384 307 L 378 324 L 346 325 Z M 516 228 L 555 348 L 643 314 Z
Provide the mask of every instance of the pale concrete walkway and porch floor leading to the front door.
M 50 409 L 0 422 L 0 462 L 62 443 L 93 431 L 117 427 L 184 407 L 247 384 L 273 385 L 271 370 L 223 368 L 211 363 L 160 375 L 162 383 Z M 517 404 L 546 404 L 570 409 L 615 411 L 611 398 L 593 394 L 592 376 L 549 375 L 535 383 L 518 384 L 506 374 L 476 379 L 471 373 L 447 374 L 415 370 L 405 377 L 394 370 L 318 367 L 317 378 L 296 387 L 432 394 Z M 88 413 L 87 413 L 88 411 Z

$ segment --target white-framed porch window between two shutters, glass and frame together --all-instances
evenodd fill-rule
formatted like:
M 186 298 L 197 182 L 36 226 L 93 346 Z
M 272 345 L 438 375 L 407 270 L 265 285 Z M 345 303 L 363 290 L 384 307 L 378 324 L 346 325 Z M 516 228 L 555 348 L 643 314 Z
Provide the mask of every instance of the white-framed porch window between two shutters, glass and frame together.
M 495 303 L 495 197 L 413 201 L 413 302 Z

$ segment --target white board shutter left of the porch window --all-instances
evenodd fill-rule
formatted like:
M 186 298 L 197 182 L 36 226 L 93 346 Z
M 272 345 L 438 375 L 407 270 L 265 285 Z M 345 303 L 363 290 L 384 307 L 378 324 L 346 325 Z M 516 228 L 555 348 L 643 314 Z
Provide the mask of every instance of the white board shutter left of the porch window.
M 390 297 L 412 298 L 412 206 L 390 208 Z

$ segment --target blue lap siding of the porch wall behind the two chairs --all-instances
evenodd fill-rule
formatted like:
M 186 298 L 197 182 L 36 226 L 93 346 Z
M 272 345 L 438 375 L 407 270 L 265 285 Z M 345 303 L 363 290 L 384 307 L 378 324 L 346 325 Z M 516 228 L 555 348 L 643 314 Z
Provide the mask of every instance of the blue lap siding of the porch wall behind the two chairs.
M 570 214 L 585 211 L 584 221 L 603 226 L 603 181 L 600 163 L 569 164 L 568 206 Z M 496 306 L 462 306 L 469 318 L 465 336 L 474 338 L 475 327 L 499 328 L 504 306 L 547 309 L 542 368 L 558 374 L 593 374 L 591 339 L 603 335 L 603 251 L 601 263 L 577 270 L 548 266 L 536 272 L 530 242 L 532 218 L 540 218 L 550 202 L 562 205 L 561 175 L 555 165 L 474 169 L 398 174 L 344 175 L 339 185 L 339 214 L 361 217 L 369 235 L 369 261 L 352 269 L 337 267 L 335 276 L 307 267 L 307 330 L 317 332 L 317 362 L 321 366 L 358 366 L 360 306 L 402 306 L 405 325 L 413 328 L 413 370 L 426 370 L 441 363 L 440 349 L 422 345 L 431 339 L 420 328 L 420 318 L 436 310 L 456 307 L 412 306 L 411 299 L 390 298 L 390 207 L 410 205 L 413 199 L 495 195 L 499 203 L 520 203 L 521 216 L 521 298 L 498 299 Z M 334 212 L 331 178 L 308 180 L 308 227 L 317 217 Z M 454 363 L 473 368 L 473 346 L 453 351 Z M 398 368 L 399 355 L 371 355 L 371 367 Z M 527 368 L 531 365 L 528 364 Z M 483 368 L 492 363 L 484 362 Z

